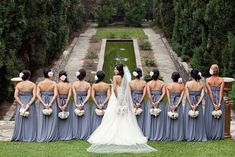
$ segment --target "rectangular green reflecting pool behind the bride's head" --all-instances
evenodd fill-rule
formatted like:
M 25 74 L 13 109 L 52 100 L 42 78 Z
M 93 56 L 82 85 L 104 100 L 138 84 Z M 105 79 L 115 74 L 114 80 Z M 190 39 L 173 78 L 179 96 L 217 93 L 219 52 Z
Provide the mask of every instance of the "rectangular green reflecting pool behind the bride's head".
M 130 72 L 136 68 L 133 40 L 107 40 L 103 64 L 105 82 L 111 83 L 114 67 L 118 63 L 126 65 Z

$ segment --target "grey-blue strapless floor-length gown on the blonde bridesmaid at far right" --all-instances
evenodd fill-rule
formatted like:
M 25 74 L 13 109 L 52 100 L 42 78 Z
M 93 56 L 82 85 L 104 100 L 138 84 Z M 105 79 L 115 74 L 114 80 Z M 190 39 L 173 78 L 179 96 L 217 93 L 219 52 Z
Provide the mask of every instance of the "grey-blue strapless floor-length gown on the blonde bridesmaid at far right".
M 214 102 L 218 104 L 220 96 L 220 87 L 211 86 Z M 221 101 L 222 116 L 220 118 L 214 118 L 212 116 L 213 105 L 211 103 L 209 94 L 206 95 L 205 105 L 205 124 L 208 139 L 219 140 L 224 138 L 224 100 Z

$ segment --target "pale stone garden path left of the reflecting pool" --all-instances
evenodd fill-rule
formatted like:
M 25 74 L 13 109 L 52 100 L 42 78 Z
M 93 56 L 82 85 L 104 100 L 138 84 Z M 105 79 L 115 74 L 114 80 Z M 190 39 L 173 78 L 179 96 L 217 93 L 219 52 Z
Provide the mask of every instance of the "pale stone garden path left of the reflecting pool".
M 75 73 L 78 69 L 82 68 L 83 59 L 88 52 L 90 39 L 95 33 L 96 28 L 89 27 L 86 32 L 80 34 L 64 69 L 68 74 L 70 82 L 73 82 L 77 79 Z

